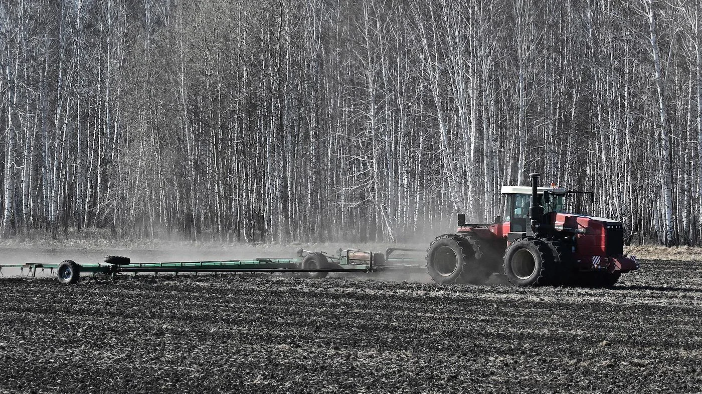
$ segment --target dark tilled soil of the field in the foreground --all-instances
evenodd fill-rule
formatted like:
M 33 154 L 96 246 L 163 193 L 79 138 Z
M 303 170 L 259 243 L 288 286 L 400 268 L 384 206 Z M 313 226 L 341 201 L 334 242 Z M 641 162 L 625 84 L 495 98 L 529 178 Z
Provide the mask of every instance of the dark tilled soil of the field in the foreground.
M 696 393 L 702 266 L 614 289 L 0 280 L 0 393 Z

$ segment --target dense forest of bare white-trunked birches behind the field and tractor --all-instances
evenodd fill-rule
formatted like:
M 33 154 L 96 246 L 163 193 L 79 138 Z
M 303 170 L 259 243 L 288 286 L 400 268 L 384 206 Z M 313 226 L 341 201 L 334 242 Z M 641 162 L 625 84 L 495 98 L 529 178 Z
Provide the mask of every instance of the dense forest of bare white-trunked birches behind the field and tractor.
M 402 240 L 528 173 L 700 245 L 695 0 L 0 0 L 1 236 Z

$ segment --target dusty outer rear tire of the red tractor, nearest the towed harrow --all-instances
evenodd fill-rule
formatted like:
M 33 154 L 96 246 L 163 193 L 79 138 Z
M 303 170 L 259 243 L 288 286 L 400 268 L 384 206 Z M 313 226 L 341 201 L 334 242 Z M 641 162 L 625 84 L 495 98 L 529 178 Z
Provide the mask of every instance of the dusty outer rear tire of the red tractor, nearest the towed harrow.
M 468 240 L 456 234 L 435 238 L 427 250 L 427 270 L 436 283 L 482 283 L 475 251 Z

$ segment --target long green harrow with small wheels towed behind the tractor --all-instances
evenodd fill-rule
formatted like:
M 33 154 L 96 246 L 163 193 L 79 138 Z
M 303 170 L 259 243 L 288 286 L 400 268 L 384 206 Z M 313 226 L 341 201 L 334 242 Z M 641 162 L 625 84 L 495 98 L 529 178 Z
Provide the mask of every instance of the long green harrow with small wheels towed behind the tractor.
M 376 273 L 390 269 L 411 269 L 425 266 L 425 250 L 389 247 L 385 253 L 340 249 L 337 254 L 300 249 L 293 258 L 257 258 L 250 260 L 164 261 L 134 263 L 128 257 L 107 256 L 105 261 L 78 264 L 73 260 L 60 263 L 0 264 L 4 268 L 27 271 L 32 278 L 39 270 L 55 273 L 63 284 L 78 283 L 82 274 L 117 276 L 139 273 L 303 273 L 310 278 L 324 278 L 329 273 Z

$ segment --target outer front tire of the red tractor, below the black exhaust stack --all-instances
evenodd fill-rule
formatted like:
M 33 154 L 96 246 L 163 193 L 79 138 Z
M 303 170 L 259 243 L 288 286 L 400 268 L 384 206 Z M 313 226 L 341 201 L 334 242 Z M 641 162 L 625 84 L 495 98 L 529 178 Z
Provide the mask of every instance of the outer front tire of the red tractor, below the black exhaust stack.
M 553 270 L 553 254 L 543 240 L 521 238 L 505 252 L 503 268 L 512 285 L 538 286 L 548 283 Z

